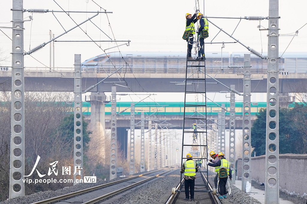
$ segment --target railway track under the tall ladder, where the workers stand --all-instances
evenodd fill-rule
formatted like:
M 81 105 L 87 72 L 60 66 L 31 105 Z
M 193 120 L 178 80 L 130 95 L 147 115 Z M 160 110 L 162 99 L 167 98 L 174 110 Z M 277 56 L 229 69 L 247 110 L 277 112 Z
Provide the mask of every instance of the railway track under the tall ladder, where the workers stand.
M 201 187 L 195 187 L 195 196 L 197 203 L 199 204 L 221 204 L 219 198 L 217 195 L 213 194 L 213 188 L 211 187 L 210 183 L 208 183 L 208 180 L 203 172 L 196 173 L 196 175 L 199 177 L 201 176 L 202 180 L 196 179 L 195 184 L 208 184 L 208 188 L 210 192 L 197 192 L 206 189 L 205 186 Z M 177 185 L 176 188 L 172 189 L 172 195 L 169 196 L 169 199 L 165 202 L 165 204 L 183 204 L 187 203 L 187 201 L 183 200 L 185 198 L 184 192 L 178 192 L 180 189 L 180 185 L 184 184 L 184 179 L 181 180 L 181 182 Z

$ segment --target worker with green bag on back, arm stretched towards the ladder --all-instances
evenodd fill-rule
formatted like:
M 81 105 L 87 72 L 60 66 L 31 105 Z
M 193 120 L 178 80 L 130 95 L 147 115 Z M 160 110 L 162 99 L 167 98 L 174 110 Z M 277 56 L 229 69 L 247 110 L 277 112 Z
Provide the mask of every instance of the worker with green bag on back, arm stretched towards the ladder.
M 232 180 L 230 162 L 225 158 L 225 154 L 223 152 L 219 153 L 220 160 L 216 163 L 209 163 L 206 161 L 206 164 L 212 167 L 215 167 L 215 171 L 219 174 L 219 187 L 220 187 L 220 199 L 227 198 L 226 184 L 229 179 Z

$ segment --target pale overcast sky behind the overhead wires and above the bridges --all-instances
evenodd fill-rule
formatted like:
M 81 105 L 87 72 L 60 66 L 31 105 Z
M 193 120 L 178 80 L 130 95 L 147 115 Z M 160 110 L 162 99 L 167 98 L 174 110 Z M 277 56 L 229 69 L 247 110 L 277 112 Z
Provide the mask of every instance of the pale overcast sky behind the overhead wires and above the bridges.
M 88 2 L 88 3 L 87 3 Z M 103 9 L 112 11 L 108 15 L 102 13 L 93 18 L 93 22 L 99 26 L 107 35 L 114 39 L 107 16 L 110 21 L 111 28 L 117 40 L 131 40 L 130 46 L 121 46 L 121 51 L 169 51 L 171 52 L 186 52 L 186 42 L 181 39 L 185 30 L 185 13 L 195 13 L 195 1 L 169 1 L 169 0 L 156 0 L 156 1 L 141 1 L 141 0 L 113 0 L 102 1 L 95 0 Z M 203 1 L 200 1 L 200 11 L 205 16 L 219 16 L 219 17 L 244 17 L 244 16 L 268 16 L 268 0 L 259 1 L 246 1 L 246 0 L 219 0 L 219 1 L 205 1 L 205 10 Z M 100 7 L 97 6 L 91 0 L 24 0 L 25 9 L 49 9 L 49 10 L 61 10 L 56 4 L 58 3 L 64 10 L 87 10 L 97 11 Z M 307 23 L 305 17 L 305 8 L 307 6 L 306 1 L 293 0 L 291 3 L 286 0 L 279 1 L 279 28 L 280 34 L 293 33 L 297 29 L 301 28 Z M 1 20 L 0 26 L 11 27 L 10 22 L 12 20 L 12 1 L 1 2 Z M 68 30 L 76 24 L 65 13 L 54 13 L 60 23 L 64 26 L 65 30 Z M 28 16 L 31 13 L 25 12 L 25 20 L 28 20 Z M 93 16 L 93 13 L 70 13 L 70 17 L 77 23 L 84 21 L 85 19 Z M 238 24 L 238 19 L 213 19 L 214 23 L 223 28 L 228 33 L 232 33 Z M 6 23 L 6 24 L 4 24 Z M 32 29 L 31 29 L 32 23 Z M 265 28 L 268 27 L 268 20 L 262 20 L 261 25 Z M 257 26 L 259 21 L 241 20 L 238 28 L 235 30 L 233 36 L 240 40 L 247 46 L 254 48 L 258 52 L 267 52 L 267 31 L 258 30 Z M 57 22 L 51 12 L 49 13 L 34 13 L 32 22 L 24 23 L 24 49 L 26 51 L 39 44 L 49 41 L 49 30 L 55 36 L 64 32 L 61 25 Z M 91 22 L 87 22 L 81 26 L 81 28 L 87 32 L 87 34 L 95 40 L 108 40 L 109 38 L 99 31 Z M 12 36 L 10 29 L 2 29 L 8 36 Z M 218 33 L 214 25 L 209 23 L 209 38 L 206 42 L 212 40 L 212 38 Z M 287 49 L 287 52 L 305 52 L 307 46 L 307 25 L 302 28 L 298 37 L 293 39 L 293 42 Z M 261 37 L 260 37 L 261 36 Z M 31 40 L 30 40 L 31 38 Z M 80 28 L 75 28 L 71 32 L 61 36 L 58 40 L 90 40 Z M 279 38 L 279 52 L 283 52 L 292 37 L 280 37 Z M 8 57 L 7 61 L 2 62 L 2 65 L 11 66 L 11 40 L 8 39 L 2 32 L 0 32 L 0 48 L 3 55 Z M 261 41 L 262 40 L 262 41 Z M 233 41 L 229 36 L 220 32 L 220 34 L 214 39 L 214 42 L 229 42 Z M 261 43 L 262 42 L 262 43 Z M 99 44 L 99 43 L 98 43 Z M 101 48 L 106 49 L 115 46 L 114 43 L 101 43 Z M 110 49 L 108 52 L 118 51 L 117 48 Z M 220 52 L 221 45 L 213 44 L 205 46 L 206 52 Z M 223 52 L 246 52 L 248 50 L 240 45 L 225 44 Z M 55 43 L 55 66 L 56 67 L 73 67 L 74 54 L 81 54 L 81 60 L 84 61 L 88 58 L 103 54 L 103 51 L 95 43 Z M 43 49 L 32 54 L 43 64 L 49 66 L 49 45 L 46 45 Z M 307 57 L 307 56 L 306 56 Z M 44 67 L 42 64 L 33 60 L 28 55 L 25 56 L 26 67 Z M 173 94 L 174 96 L 177 94 Z M 157 98 L 161 98 L 158 101 L 174 100 L 174 97 L 165 98 L 165 94 L 157 95 Z M 168 95 L 170 96 L 170 95 Z M 177 95 L 178 96 L 178 95 Z M 224 101 L 225 94 L 212 95 L 217 101 Z M 265 101 L 266 97 L 260 94 L 259 97 L 255 97 L 255 101 Z M 182 97 L 178 97 L 183 99 Z M 123 100 L 125 97 L 122 98 Z M 130 97 L 126 100 L 131 100 Z M 136 99 L 134 99 L 136 100 Z M 182 101 L 179 100 L 178 101 Z

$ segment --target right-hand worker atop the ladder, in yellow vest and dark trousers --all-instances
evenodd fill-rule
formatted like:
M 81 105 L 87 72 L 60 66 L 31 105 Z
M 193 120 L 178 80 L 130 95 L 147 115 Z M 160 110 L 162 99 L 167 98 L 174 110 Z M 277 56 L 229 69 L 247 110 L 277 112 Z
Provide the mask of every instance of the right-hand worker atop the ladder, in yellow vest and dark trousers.
M 196 33 L 198 33 L 197 37 L 200 38 L 200 50 L 198 51 L 198 57 L 196 58 L 196 60 L 205 60 L 206 57 L 205 57 L 203 45 L 204 45 L 204 39 L 209 36 L 208 35 L 208 32 L 209 32 L 208 20 L 205 19 L 204 15 L 202 13 L 198 13 L 197 18 L 200 19 L 199 20 L 200 27 L 196 31 Z M 202 34 L 204 34 L 204 35 L 202 35 Z

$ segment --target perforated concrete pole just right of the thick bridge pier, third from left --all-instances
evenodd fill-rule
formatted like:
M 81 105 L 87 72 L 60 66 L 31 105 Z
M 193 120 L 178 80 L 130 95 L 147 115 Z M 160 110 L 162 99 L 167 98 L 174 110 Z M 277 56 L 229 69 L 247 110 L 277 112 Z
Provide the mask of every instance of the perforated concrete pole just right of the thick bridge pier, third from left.
M 116 86 L 111 87 L 111 156 L 110 180 L 117 178 Z

